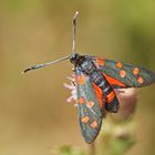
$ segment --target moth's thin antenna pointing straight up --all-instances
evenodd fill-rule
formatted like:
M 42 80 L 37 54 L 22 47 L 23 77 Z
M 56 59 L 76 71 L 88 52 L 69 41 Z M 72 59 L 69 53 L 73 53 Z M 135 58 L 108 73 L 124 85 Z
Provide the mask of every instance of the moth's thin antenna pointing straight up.
M 78 18 L 79 11 L 75 12 L 73 17 L 73 51 L 72 53 L 75 53 L 75 33 L 76 33 L 76 18 Z

